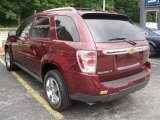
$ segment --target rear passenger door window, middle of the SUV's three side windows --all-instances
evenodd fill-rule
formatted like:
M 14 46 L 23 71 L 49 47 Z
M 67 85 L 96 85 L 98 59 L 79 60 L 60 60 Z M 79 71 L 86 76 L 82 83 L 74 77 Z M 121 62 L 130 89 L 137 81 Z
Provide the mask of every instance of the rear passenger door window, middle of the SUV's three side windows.
M 32 29 L 32 37 L 50 38 L 49 18 L 38 17 Z

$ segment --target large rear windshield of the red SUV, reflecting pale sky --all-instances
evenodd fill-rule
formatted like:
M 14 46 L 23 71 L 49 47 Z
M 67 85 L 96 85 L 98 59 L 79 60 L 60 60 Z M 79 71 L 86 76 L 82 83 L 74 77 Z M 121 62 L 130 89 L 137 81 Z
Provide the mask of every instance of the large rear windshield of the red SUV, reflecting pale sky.
M 145 40 L 138 27 L 129 21 L 113 19 L 84 19 L 96 43 L 125 38 L 126 40 Z

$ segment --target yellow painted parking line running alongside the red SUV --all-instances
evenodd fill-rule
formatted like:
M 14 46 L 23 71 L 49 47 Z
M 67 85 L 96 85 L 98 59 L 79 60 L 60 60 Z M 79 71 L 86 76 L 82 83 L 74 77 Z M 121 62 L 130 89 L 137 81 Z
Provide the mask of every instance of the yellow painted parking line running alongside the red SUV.
M 0 58 L 0 63 L 5 66 L 5 62 Z M 63 115 L 58 111 L 51 108 L 48 102 L 43 99 L 27 82 L 25 82 L 16 72 L 11 72 L 18 82 L 44 107 L 46 108 L 55 119 L 63 119 Z

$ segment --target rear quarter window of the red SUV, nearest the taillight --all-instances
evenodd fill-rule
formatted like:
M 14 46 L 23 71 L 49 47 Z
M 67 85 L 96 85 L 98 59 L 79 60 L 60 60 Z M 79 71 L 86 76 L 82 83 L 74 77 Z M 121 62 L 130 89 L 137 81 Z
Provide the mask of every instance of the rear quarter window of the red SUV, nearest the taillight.
M 57 39 L 64 41 L 79 41 L 79 34 L 74 21 L 68 16 L 56 16 Z

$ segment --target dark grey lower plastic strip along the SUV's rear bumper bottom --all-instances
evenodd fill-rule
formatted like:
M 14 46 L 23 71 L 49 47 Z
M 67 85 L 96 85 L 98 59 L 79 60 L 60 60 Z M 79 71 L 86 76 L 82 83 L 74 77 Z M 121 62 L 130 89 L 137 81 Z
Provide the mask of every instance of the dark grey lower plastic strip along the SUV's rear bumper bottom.
M 148 84 L 148 80 L 144 80 L 143 82 L 136 84 L 134 86 L 121 89 L 119 92 L 114 93 L 114 94 L 108 94 L 108 95 L 103 95 L 103 96 L 91 96 L 91 95 L 86 95 L 82 93 L 76 93 L 71 97 L 71 99 L 82 101 L 82 102 L 88 102 L 88 103 L 94 103 L 94 102 L 108 102 L 123 96 L 126 96 L 130 93 L 136 92 L 137 90 L 142 89 Z

